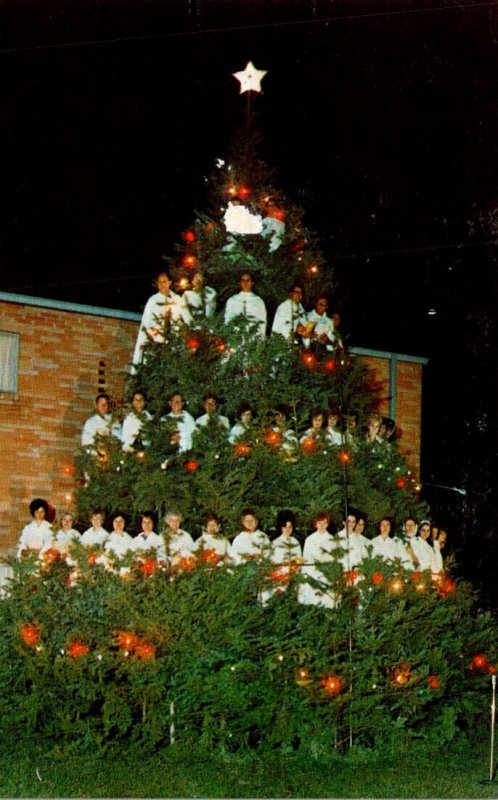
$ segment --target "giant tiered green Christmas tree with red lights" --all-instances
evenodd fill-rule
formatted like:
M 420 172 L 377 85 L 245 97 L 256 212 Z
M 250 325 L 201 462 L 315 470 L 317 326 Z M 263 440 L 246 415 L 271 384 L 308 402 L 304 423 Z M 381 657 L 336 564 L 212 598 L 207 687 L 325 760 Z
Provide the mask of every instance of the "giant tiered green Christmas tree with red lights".
M 146 396 L 149 416 L 137 412 L 130 446 L 102 436 L 79 454 L 80 515 L 125 511 L 133 524 L 140 512 L 161 520 L 177 509 L 195 534 L 214 513 L 229 536 L 248 507 L 266 530 L 279 510 L 294 512 L 302 535 L 324 509 L 337 526 L 351 507 L 372 523 L 420 519 L 425 508 L 396 447 L 362 432 L 378 396 L 361 361 L 337 336 L 262 330 L 243 305 L 226 313 L 241 273 L 269 319 L 296 285 L 306 305 L 333 289 L 316 237 L 273 186 L 249 122 L 217 164 L 208 211 L 168 263 L 185 316 L 153 320 L 156 333 L 134 359 L 129 395 Z M 207 395 L 218 408 L 206 400 L 206 424 L 187 432 L 182 398 L 197 415 Z M 220 405 L 232 420 L 250 406 L 250 424 L 229 436 Z M 335 440 L 307 430 L 319 409 L 341 420 Z M 331 602 L 306 605 L 296 563 L 233 566 L 209 550 L 113 559 L 82 544 L 65 555 L 13 563 L 0 604 L 6 730 L 92 748 L 131 737 L 317 758 L 354 744 L 439 744 L 487 709 L 496 628 L 474 615 L 471 588 L 447 574 L 433 580 L 378 556 L 349 569 L 339 556 L 320 564 Z

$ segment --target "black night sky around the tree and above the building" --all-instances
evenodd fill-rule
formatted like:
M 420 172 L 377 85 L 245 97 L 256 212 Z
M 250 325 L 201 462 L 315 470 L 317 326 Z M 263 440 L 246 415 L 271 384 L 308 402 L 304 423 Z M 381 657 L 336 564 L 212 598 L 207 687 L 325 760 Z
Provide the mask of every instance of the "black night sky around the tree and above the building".
M 249 60 L 350 344 L 429 358 L 423 496 L 496 607 L 495 0 L 4 2 L 0 290 L 140 311 Z

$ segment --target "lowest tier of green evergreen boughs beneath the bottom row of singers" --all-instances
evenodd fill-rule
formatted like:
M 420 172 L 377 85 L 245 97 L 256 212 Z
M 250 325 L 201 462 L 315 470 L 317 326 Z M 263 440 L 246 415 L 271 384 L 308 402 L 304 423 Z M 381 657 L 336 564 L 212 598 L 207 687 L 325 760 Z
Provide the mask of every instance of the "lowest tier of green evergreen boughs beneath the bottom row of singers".
M 465 583 L 331 563 L 324 609 L 297 602 L 299 573 L 263 562 L 123 561 L 120 577 L 89 561 L 81 549 L 77 579 L 61 561 L 15 565 L 0 602 L 7 733 L 318 756 L 441 743 L 488 714 L 496 627 Z

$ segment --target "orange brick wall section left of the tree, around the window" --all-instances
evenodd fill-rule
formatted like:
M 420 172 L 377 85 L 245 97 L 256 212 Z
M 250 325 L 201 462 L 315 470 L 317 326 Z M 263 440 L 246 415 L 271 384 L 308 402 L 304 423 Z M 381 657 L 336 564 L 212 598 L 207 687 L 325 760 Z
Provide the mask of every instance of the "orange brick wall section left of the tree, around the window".
M 0 331 L 20 335 L 18 395 L 0 395 L 0 553 L 17 543 L 33 497 L 71 507 L 83 422 L 99 389 L 121 400 L 137 328 L 129 319 L 0 301 Z

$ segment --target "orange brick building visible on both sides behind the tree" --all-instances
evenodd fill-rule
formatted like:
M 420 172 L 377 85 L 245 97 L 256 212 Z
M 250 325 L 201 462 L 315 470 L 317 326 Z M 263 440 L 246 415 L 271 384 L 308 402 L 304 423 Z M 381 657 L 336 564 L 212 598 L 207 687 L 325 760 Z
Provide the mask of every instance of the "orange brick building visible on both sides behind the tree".
M 83 422 L 99 390 L 121 402 L 139 323 L 125 311 L 0 292 L 0 555 L 13 551 L 33 497 L 71 507 Z M 418 475 L 425 360 L 352 352 L 381 382 L 380 411 L 396 420 Z

